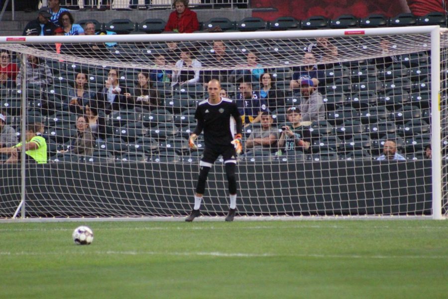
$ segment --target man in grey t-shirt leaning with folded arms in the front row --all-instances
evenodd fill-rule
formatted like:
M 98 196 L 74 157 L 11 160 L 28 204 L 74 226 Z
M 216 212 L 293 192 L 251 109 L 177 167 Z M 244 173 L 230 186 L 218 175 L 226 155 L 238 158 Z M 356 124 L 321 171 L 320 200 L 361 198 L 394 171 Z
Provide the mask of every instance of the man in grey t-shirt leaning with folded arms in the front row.
M 246 140 L 245 155 L 251 155 L 254 149 L 269 149 L 272 151 L 278 140 L 278 129 L 272 126 L 274 122 L 272 115 L 264 111 L 260 115 L 261 127 L 252 130 Z

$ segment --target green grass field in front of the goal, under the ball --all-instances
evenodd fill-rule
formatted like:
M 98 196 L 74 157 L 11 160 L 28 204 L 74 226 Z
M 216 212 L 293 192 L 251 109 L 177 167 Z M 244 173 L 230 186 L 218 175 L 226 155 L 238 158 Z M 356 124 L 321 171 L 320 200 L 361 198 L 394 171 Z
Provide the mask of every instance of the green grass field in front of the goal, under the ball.
M 0 298 L 447 297 L 448 221 L 0 223 Z

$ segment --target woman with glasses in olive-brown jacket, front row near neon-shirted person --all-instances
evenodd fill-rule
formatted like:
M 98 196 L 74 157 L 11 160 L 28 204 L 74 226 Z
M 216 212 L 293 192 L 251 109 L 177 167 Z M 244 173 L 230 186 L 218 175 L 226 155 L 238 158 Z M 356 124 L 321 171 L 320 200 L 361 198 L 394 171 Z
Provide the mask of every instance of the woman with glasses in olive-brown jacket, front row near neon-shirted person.
M 95 148 L 95 139 L 90 130 L 89 119 L 87 116 L 78 116 L 76 119 L 76 129 L 78 135 L 76 136 L 76 139 L 72 140 L 70 148 L 59 152 L 71 152 L 91 156 Z

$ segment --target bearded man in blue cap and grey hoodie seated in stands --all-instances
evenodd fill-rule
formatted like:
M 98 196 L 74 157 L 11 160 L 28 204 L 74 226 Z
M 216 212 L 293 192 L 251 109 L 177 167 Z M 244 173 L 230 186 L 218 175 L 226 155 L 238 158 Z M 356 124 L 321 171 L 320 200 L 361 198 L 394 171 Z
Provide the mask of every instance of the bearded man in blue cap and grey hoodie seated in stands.
M 321 93 L 314 85 L 311 79 L 300 81 L 300 111 L 302 112 L 303 122 L 314 122 L 325 120 L 325 105 Z

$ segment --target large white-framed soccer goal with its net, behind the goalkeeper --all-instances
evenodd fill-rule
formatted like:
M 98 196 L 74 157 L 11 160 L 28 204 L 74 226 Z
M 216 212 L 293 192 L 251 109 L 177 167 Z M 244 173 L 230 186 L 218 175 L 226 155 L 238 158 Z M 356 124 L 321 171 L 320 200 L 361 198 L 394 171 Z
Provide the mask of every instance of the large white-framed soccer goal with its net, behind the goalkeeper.
M 215 78 L 243 115 L 239 216 L 444 219 L 444 33 L 1 37 L 1 55 L 20 65 L 1 81 L 3 127 L 14 143 L 43 137 L 47 162 L 1 153 L 0 217 L 186 215 L 204 149 L 188 137 Z M 218 160 L 202 211 L 224 215 L 227 200 Z

